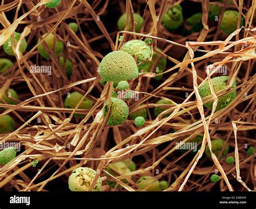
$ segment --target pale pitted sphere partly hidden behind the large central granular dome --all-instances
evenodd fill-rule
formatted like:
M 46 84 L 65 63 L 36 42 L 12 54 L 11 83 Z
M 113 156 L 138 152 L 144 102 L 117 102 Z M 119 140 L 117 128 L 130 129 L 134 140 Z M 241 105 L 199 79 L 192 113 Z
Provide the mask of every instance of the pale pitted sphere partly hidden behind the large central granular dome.
M 139 64 L 139 71 L 147 65 L 151 57 L 151 48 L 142 40 L 127 41 L 120 50 L 132 55 L 137 64 Z

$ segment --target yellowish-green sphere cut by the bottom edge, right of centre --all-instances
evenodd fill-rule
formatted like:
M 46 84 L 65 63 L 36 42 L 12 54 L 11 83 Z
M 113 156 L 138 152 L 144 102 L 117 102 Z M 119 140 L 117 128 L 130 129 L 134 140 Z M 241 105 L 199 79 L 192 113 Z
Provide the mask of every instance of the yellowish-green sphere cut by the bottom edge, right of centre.
M 160 182 L 152 176 L 143 176 L 136 182 L 140 190 L 160 192 Z

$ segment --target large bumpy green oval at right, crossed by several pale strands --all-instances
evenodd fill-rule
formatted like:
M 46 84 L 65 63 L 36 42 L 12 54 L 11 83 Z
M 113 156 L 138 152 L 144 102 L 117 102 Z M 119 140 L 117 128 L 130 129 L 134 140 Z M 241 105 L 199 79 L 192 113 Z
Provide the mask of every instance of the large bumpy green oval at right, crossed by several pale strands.
M 212 80 L 214 93 L 217 93 L 220 90 L 225 89 L 228 81 L 228 76 L 218 76 L 211 80 Z M 233 82 L 231 89 L 234 88 L 235 86 L 237 86 L 237 79 L 235 79 L 235 81 Z M 208 95 L 211 95 L 209 81 L 204 82 L 203 85 L 199 87 L 198 91 L 202 98 Z M 227 107 L 234 99 L 235 99 L 235 90 L 223 96 L 218 96 L 218 103 L 217 103 L 215 112 Z M 213 101 L 205 103 L 204 106 L 212 110 Z

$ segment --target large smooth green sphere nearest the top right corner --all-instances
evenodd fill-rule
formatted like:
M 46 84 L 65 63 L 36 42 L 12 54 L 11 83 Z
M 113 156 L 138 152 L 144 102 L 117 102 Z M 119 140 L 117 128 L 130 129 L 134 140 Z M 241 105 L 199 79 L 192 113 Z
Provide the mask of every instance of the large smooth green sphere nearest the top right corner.
M 237 30 L 239 12 L 234 10 L 226 10 L 220 23 L 220 29 L 227 35 Z M 241 16 L 240 27 L 244 25 L 244 17 Z

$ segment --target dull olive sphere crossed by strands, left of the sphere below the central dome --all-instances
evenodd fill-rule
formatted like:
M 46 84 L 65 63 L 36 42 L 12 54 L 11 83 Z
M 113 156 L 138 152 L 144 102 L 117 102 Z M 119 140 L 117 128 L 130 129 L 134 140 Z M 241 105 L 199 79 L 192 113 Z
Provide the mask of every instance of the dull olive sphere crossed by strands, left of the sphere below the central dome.
M 69 94 L 64 102 L 64 106 L 65 108 L 71 108 L 74 109 L 78 102 L 80 100 L 82 100 L 83 95 L 78 93 L 78 92 L 72 92 L 71 94 Z M 82 101 L 82 103 L 80 103 L 78 109 L 91 109 L 93 106 L 92 101 L 88 98 L 85 98 L 84 101 Z M 74 114 L 74 117 L 78 117 L 78 118 L 83 118 L 85 117 L 84 114 Z

